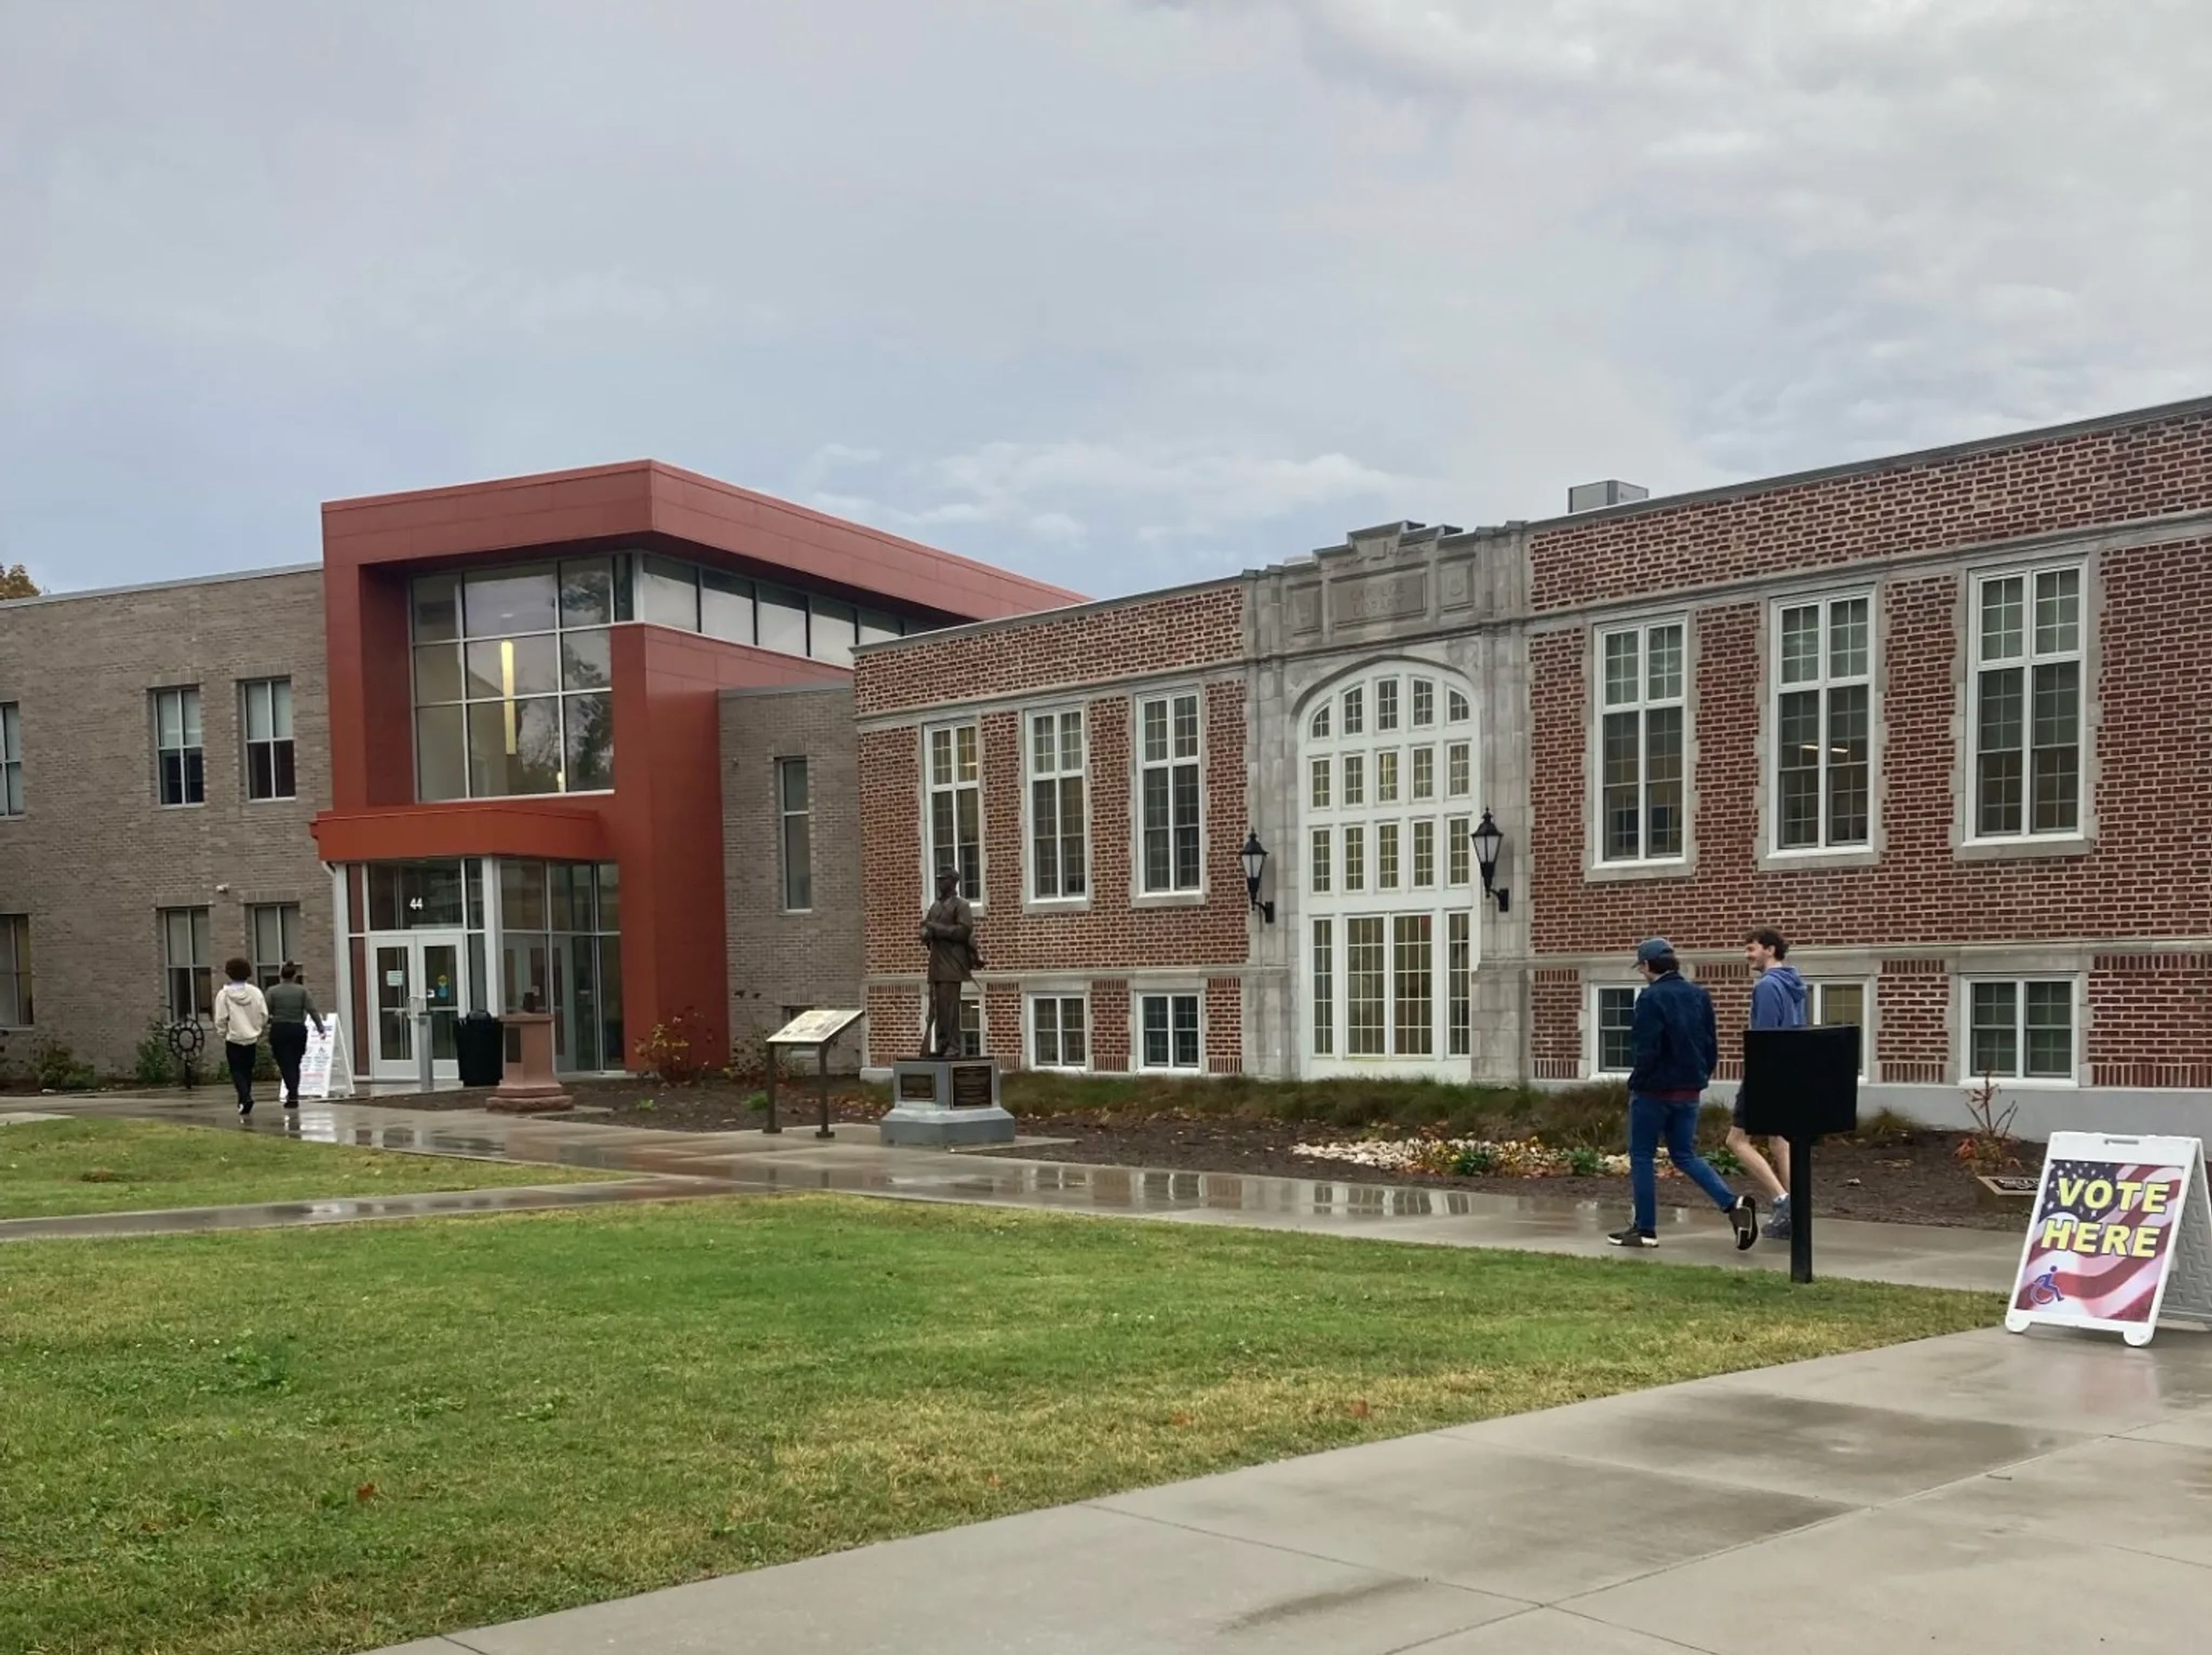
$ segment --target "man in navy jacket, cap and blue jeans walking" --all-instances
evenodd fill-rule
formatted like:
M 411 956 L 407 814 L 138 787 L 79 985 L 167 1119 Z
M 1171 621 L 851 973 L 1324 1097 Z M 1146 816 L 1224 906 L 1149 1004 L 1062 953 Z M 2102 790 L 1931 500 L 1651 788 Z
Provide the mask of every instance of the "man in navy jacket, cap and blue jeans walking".
M 1628 1188 L 1635 1217 L 1606 1237 L 1617 1248 L 1659 1246 L 1659 1144 L 1736 1228 L 1736 1250 L 1759 1239 L 1759 1206 L 1736 1195 L 1697 1153 L 1697 1106 L 1712 1082 L 1721 1042 L 1712 1027 L 1712 996 L 1681 976 L 1674 945 L 1663 936 L 1637 945 L 1632 1027 L 1635 1069 L 1628 1075 Z

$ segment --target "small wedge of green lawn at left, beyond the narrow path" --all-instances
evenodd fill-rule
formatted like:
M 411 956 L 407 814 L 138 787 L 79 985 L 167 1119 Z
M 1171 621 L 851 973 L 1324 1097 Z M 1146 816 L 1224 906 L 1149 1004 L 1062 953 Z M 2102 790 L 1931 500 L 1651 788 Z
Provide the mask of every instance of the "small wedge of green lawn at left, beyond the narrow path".
M 221 1126 L 144 1120 L 40 1120 L 0 1126 L 0 1219 L 144 1212 L 161 1206 L 427 1195 L 606 1177 L 575 1166 L 511 1166 L 303 1144 Z

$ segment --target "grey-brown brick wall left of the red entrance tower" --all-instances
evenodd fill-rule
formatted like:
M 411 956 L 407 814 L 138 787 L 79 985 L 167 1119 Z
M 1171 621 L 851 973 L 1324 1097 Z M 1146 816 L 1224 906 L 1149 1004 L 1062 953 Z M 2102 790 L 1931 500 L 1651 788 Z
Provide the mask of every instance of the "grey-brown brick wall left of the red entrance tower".
M 292 679 L 296 799 L 248 801 L 239 681 Z M 155 803 L 148 693 L 199 686 L 206 803 Z M 296 903 L 296 954 L 330 1007 L 330 876 L 307 823 L 330 803 L 323 577 L 241 575 L 0 608 L 0 701 L 22 708 L 24 814 L 0 821 L 0 914 L 29 914 L 35 1029 L 128 1071 L 164 1016 L 157 909 L 206 907 L 215 980 L 252 954 L 248 909 Z M 217 892 L 228 885 L 228 892 Z M 361 1031 L 347 1031 L 356 1064 Z

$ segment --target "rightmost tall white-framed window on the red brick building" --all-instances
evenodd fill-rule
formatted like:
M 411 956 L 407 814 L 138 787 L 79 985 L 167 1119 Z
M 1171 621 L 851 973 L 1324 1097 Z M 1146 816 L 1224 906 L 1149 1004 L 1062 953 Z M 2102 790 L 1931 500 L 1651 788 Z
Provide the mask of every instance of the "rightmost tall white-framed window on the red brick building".
M 1973 582 L 1973 839 L 2081 832 L 2081 564 Z

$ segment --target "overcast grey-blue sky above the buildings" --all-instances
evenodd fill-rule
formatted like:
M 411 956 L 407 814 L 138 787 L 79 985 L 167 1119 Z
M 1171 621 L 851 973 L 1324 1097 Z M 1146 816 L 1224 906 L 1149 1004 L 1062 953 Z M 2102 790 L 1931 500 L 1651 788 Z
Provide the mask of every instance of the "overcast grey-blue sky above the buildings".
M 1108 595 L 2212 392 L 2192 0 L 0 0 L 0 558 L 637 456 Z

